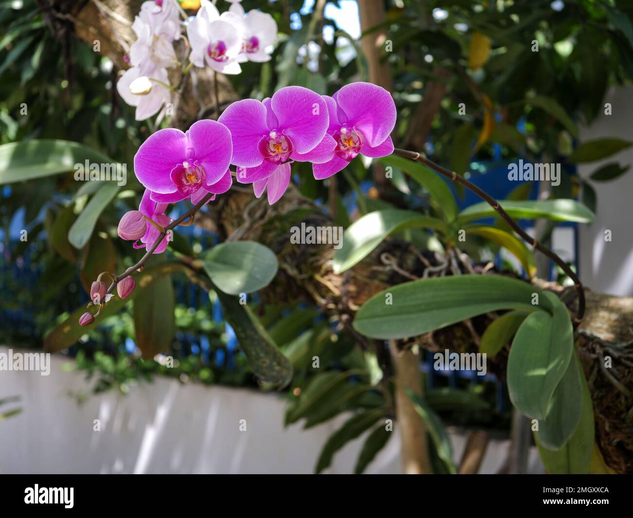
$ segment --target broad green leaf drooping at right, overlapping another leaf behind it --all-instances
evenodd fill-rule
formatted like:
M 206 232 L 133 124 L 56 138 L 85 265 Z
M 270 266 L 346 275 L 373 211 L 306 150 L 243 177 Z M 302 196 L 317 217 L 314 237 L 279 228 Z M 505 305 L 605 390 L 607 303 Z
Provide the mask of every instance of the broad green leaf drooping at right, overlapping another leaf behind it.
M 536 419 L 545 419 L 573 353 L 567 307 L 551 292 L 541 293 L 540 302 L 546 299 L 555 304 L 553 314 L 536 311 L 525 318 L 512 342 L 507 367 L 512 404 L 525 416 Z

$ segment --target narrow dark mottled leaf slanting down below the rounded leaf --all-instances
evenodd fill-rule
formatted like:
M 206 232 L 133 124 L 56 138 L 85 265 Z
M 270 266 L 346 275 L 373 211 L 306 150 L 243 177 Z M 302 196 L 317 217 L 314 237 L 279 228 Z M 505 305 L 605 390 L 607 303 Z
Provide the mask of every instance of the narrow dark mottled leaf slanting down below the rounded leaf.
M 224 318 L 235 331 L 239 347 L 256 376 L 281 388 L 288 385 L 292 379 L 292 365 L 268 336 L 257 316 L 247 305 L 240 304 L 238 297 L 222 292 L 213 282 L 210 284 L 220 299 Z

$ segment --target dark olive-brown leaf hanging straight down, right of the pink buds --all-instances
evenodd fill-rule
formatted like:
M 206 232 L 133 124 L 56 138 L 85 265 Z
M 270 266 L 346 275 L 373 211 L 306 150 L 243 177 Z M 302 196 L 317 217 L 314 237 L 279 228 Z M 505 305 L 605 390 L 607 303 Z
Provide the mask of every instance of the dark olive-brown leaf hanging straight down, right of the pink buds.
M 168 350 L 175 333 L 172 278 L 166 276 L 142 290 L 134 299 L 136 345 L 144 359 Z

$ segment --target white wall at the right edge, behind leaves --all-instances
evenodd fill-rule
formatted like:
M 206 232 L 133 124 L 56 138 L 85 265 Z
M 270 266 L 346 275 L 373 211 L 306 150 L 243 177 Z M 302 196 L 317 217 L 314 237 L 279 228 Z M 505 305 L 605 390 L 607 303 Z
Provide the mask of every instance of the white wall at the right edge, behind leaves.
M 589 128 L 581 128 L 580 141 L 599 137 L 633 140 L 633 87 L 611 89 L 605 102 L 611 103 L 611 115 L 604 109 Z M 633 163 L 633 147 L 606 160 L 579 167 L 587 178 L 611 161 Z M 597 218 L 591 225 L 580 225 L 580 280 L 594 291 L 611 295 L 633 295 L 633 170 L 611 182 L 592 182 L 598 195 Z M 611 242 L 605 242 L 605 230 L 611 230 Z

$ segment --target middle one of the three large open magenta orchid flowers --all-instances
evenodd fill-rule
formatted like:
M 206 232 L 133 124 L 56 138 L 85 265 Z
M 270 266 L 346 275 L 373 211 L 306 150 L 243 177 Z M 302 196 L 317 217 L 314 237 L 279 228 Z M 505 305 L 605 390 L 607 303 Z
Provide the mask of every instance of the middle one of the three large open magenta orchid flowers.
M 290 180 L 289 168 L 280 166 L 295 160 L 327 161 L 336 146 L 335 140 L 325 133 L 329 122 L 325 101 L 303 87 L 282 88 L 263 102 L 234 102 L 218 122 L 230 130 L 231 163 L 238 166 L 238 182 L 261 182 L 277 175 L 267 182 L 269 201 L 279 199 Z M 265 186 L 258 185 L 256 193 L 261 195 Z

